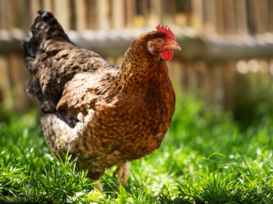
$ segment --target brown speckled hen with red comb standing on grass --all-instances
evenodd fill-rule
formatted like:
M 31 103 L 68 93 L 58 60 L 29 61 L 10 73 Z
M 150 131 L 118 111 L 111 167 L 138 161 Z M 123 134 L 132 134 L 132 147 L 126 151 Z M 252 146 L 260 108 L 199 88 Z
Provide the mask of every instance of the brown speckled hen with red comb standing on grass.
M 72 43 L 52 13 L 38 14 L 23 48 L 27 92 L 41 102 L 48 146 L 56 155 L 78 156 L 77 165 L 88 166 L 94 181 L 116 165 L 116 183 L 125 185 L 128 162 L 158 149 L 172 120 L 175 93 L 166 61 L 172 49 L 181 50 L 174 34 L 160 25 L 141 34 L 117 66 Z

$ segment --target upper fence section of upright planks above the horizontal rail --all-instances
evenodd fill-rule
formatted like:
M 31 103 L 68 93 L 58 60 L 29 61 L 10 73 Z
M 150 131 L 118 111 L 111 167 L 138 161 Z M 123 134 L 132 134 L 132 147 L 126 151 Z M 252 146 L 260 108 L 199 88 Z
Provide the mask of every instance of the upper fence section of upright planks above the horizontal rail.
M 37 10 L 55 14 L 65 30 L 107 30 L 167 24 L 199 32 L 273 31 L 272 0 L 0 0 L 0 30 L 28 31 Z

